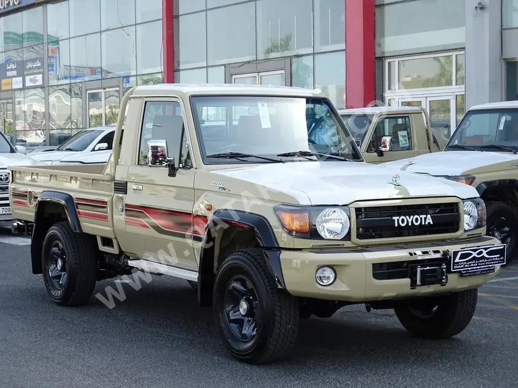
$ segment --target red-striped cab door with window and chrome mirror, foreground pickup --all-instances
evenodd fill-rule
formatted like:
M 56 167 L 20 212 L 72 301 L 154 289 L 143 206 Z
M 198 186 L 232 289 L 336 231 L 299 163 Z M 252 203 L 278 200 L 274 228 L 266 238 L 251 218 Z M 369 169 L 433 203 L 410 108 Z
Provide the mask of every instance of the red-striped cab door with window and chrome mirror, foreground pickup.
M 178 99 L 144 101 L 139 140 L 133 142 L 138 150 L 127 169 L 119 243 L 132 257 L 195 271 L 193 238 L 200 236 L 193 233 L 195 169 L 184 117 Z

